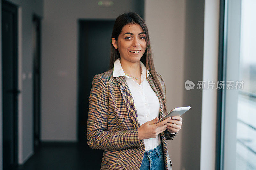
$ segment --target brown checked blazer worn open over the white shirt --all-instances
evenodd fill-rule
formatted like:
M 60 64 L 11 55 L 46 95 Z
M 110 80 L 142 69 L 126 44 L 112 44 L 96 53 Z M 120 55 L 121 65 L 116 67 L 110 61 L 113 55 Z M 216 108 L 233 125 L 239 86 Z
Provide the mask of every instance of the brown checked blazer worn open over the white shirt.
M 160 119 L 163 117 L 163 104 L 150 74 L 147 80 L 160 101 Z M 113 68 L 95 75 L 89 104 L 88 145 L 92 149 L 104 150 L 101 170 L 140 170 L 145 144 L 138 138 L 140 122 L 124 76 L 113 77 Z M 161 133 L 166 170 L 172 169 L 166 140 L 173 139 L 175 135 L 171 137 L 167 129 Z

